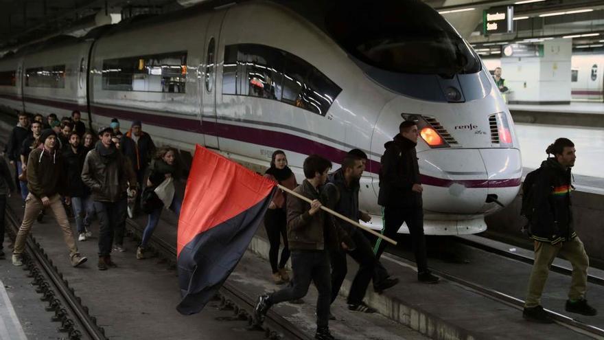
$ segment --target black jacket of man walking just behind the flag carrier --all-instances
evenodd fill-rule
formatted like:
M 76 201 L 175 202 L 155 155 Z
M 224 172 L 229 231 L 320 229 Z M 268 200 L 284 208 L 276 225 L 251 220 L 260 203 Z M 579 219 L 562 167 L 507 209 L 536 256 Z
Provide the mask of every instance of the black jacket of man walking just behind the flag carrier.
M 329 174 L 327 184 L 323 186 L 321 192 L 321 202 L 325 203 L 330 209 L 339 212 L 340 214 L 350 218 L 351 220 L 359 220 L 360 212 L 358 209 L 358 192 L 360 185 L 358 181 L 352 181 L 347 185 L 344 178 L 342 168 Z M 353 235 L 358 231 L 358 227 L 340 218 L 334 219 L 342 229 L 349 235 Z

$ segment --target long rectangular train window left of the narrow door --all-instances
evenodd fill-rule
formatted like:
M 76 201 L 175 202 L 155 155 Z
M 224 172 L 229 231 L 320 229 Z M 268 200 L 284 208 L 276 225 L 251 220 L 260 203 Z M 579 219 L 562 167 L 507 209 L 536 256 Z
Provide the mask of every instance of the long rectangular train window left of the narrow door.
M 103 60 L 104 90 L 185 93 L 187 52 Z

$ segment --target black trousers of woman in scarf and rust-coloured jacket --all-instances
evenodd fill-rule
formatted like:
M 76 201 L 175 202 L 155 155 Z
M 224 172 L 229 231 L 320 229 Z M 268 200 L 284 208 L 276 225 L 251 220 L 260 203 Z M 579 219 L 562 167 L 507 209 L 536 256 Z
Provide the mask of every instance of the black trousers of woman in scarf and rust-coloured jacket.
M 286 267 L 290 259 L 290 248 L 288 246 L 287 218 L 283 209 L 268 209 L 264 215 L 264 228 L 270 249 L 268 251 L 268 260 L 272 273 L 277 273 L 280 268 Z M 283 238 L 283 250 L 281 251 L 281 260 L 279 260 L 279 247 Z M 277 263 L 278 262 L 278 263 Z

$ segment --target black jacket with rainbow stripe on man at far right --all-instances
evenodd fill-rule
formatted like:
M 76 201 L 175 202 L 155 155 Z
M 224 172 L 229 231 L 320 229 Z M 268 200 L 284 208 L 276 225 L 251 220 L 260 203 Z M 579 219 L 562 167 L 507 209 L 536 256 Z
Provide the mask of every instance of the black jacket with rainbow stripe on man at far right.
M 535 210 L 531 215 L 529 232 L 533 239 L 555 245 L 577 236 L 570 209 L 570 178 L 570 168 L 564 168 L 555 158 L 541 163 L 532 194 Z

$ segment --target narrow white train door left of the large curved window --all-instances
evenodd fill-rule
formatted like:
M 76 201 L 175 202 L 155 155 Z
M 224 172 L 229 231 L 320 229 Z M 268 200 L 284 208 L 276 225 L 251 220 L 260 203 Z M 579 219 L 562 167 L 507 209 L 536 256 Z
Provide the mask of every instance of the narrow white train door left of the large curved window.
M 200 98 L 201 98 L 201 124 L 204 133 L 205 146 L 219 148 L 218 125 L 216 122 L 216 64 L 218 61 L 217 49 L 220 38 L 220 26 L 225 12 L 212 14 L 207 25 L 204 41 L 204 59 L 200 70 Z

